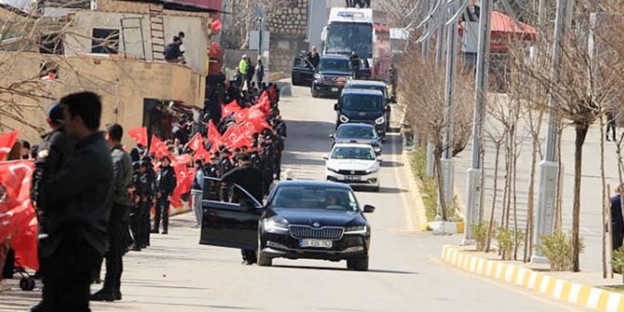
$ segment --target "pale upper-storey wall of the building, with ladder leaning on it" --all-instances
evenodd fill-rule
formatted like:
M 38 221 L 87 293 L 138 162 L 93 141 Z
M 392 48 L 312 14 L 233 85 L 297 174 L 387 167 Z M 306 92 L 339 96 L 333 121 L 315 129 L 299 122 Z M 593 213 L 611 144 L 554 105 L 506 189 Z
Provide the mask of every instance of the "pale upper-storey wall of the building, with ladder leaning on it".
M 125 31 L 125 44 L 127 54 L 145 57 L 152 60 L 152 38 L 150 35 L 149 15 L 137 13 L 102 12 L 102 11 L 79 11 L 68 29 L 65 37 L 66 56 L 76 56 L 78 53 L 90 53 L 92 34 L 94 28 L 119 29 L 121 31 L 121 19 L 124 17 L 140 17 L 143 23 L 143 41 L 140 29 L 127 29 Z M 172 41 L 178 32 L 185 32 L 184 46 L 187 66 L 193 71 L 204 74 L 206 71 L 206 58 L 208 51 L 208 35 L 205 32 L 205 20 L 194 16 L 163 16 L 165 22 L 165 44 Z M 124 25 L 139 26 L 137 20 L 125 20 Z M 124 42 L 119 38 L 120 54 L 123 54 Z

